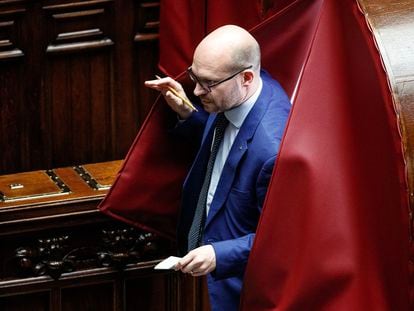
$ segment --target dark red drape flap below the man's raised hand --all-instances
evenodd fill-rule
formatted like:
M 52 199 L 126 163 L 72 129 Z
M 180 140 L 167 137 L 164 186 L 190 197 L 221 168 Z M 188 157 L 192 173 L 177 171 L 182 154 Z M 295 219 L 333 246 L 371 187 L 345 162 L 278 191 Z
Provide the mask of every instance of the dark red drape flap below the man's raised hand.
M 98 208 L 138 228 L 175 239 L 181 186 L 194 150 L 168 137 L 177 117 L 159 98 Z

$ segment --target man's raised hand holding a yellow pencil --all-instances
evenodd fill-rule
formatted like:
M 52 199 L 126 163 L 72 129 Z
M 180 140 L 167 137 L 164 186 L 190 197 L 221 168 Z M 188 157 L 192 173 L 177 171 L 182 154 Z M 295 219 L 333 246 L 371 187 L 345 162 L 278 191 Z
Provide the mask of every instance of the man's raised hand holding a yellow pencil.
M 187 119 L 193 112 L 190 107 L 184 104 L 181 98 L 168 90 L 168 88 L 173 88 L 182 97 L 188 99 L 182 85 L 172 78 L 165 77 L 157 80 L 148 80 L 145 81 L 145 86 L 160 91 L 162 95 L 164 95 L 164 98 L 167 101 L 168 105 L 180 116 L 181 119 Z

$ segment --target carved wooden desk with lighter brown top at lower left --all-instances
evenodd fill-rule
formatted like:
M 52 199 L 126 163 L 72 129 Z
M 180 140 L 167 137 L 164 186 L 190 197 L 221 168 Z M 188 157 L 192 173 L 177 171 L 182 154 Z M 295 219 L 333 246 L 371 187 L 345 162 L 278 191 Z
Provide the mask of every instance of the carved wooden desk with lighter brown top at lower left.
M 171 241 L 97 210 L 121 164 L 0 176 L 0 310 L 203 310 L 200 280 L 153 270 Z

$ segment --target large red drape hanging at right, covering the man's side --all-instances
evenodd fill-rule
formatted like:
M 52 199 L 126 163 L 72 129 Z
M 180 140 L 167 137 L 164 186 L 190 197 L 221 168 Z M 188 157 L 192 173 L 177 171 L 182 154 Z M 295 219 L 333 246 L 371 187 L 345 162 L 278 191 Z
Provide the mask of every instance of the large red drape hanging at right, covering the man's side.
M 313 3 L 242 310 L 409 310 L 407 189 L 386 74 L 355 1 Z

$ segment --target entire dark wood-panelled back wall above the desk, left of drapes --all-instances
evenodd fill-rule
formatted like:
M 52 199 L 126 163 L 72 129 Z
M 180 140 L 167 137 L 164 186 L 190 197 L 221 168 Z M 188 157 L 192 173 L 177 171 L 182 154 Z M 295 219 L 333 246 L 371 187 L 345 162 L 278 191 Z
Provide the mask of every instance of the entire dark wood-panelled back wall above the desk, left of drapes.
M 158 1 L 0 0 L 0 174 L 121 159 L 156 92 Z

